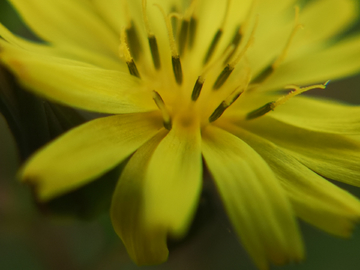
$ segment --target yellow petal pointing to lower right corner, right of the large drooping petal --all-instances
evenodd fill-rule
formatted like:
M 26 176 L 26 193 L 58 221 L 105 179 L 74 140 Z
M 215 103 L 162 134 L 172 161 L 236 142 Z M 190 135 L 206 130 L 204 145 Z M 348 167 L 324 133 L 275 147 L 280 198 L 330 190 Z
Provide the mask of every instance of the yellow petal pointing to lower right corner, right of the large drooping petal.
M 357 198 L 320 177 L 275 144 L 239 127 L 227 128 L 269 164 L 300 218 L 328 233 L 350 236 L 354 223 L 360 219 Z

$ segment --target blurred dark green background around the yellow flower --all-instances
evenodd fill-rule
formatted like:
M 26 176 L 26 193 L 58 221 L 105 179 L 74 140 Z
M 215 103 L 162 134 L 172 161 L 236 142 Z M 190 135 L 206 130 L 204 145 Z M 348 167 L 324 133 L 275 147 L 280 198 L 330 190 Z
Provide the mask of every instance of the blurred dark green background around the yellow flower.
M 8 3 L 0 0 L 0 20 L 12 31 L 31 37 Z M 352 31 L 358 31 L 357 24 Z M 332 82 L 326 91 L 313 91 L 360 104 L 360 76 Z M 104 213 L 93 220 L 41 214 L 27 186 L 16 180 L 16 148 L 0 115 L 0 269 L 154 269 L 217 270 L 255 269 L 237 241 L 219 202 L 185 241 L 173 245 L 169 261 L 160 266 L 137 267 L 114 233 Z M 359 164 L 360 166 L 360 164 Z M 360 197 L 360 189 L 342 185 Z M 94 194 L 96 196 L 96 194 Z M 207 206 L 209 207 L 209 205 Z M 297 265 L 272 267 L 283 270 L 360 269 L 360 231 L 351 239 L 332 237 L 300 222 L 307 256 Z

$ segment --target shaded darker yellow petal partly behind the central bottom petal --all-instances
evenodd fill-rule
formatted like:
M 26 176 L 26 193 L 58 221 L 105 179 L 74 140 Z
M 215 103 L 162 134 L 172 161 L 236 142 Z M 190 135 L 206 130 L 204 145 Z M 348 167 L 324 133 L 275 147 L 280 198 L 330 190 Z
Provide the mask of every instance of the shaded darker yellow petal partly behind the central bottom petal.
M 144 224 L 144 181 L 150 158 L 166 136 L 162 130 L 141 146 L 126 164 L 111 204 L 111 220 L 130 257 L 138 265 L 159 264 L 168 256 L 167 230 Z M 162 196 L 162 195 L 161 195 Z

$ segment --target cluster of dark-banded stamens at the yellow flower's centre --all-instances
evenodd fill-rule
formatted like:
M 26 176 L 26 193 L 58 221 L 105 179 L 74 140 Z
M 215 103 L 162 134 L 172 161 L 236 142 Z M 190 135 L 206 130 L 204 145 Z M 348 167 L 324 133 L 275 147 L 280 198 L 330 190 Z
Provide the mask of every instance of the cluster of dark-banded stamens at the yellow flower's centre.
M 224 45 L 221 41 L 225 30 L 228 30 L 231 0 L 225 3 L 219 27 L 207 44 L 198 38 L 199 31 L 208 29 L 199 29 L 196 0 L 182 14 L 167 14 L 158 4 L 151 7 L 157 10 L 148 13 L 150 7 L 147 6 L 147 0 L 142 0 L 142 25 L 147 37 L 139 37 L 139 32 L 130 19 L 127 27 L 121 31 L 121 56 L 127 63 L 130 74 L 141 79 L 144 87 L 153 91 L 153 99 L 163 115 L 164 127 L 169 130 L 174 123 L 186 128 L 204 127 L 220 118 L 244 91 L 253 90 L 276 70 L 285 59 L 293 37 L 301 28 L 296 8 L 294 28 L 284 49 L 270 66 L 251 78 L 246 53 L 254 42 L 257 27 L 257 17 L 253 16 L 254 4 L 249 8 L 245 19 L 239 22 L 230 42 Z M 153 16 L 152 20 L 150 15 Z M 154 16 L 160 19 L 154 19 Z M 144 50 L 139 50 L 141 43 L 147 43 L 148 57 Z M 201 50 L 195 48 L 199 45 L 196 43 L 201 45 L 197 46 Z M 262 116 L 299 93 L 325 86 L 326 84 L 307 88 L 292 86 L 295 91 L 281 100 L 249 112 L 246 119 Z

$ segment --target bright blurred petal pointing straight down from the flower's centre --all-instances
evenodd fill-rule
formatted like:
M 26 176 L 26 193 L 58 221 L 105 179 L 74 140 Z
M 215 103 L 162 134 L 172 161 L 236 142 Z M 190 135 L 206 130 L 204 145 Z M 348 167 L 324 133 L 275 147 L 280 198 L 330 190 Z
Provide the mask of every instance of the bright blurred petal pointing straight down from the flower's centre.
M 202 186 L 200 130 L 173 125 L 151 157 L 144 184 L 145 223 L 182 238 Z

